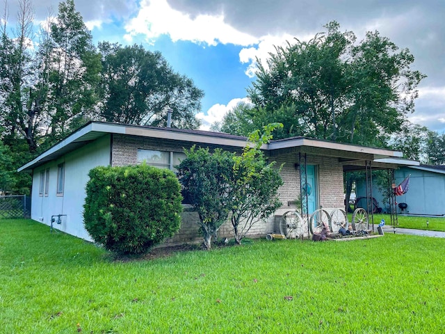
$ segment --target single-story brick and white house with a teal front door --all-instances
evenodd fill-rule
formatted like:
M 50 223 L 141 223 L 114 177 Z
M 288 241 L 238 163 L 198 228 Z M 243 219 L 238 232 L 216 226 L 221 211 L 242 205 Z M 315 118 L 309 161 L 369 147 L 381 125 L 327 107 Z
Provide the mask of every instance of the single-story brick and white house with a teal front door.
M 243 136 L 174 129 L 143 127 L 109 122 L 89 122 L 46 152 L 19 168 L 33 177 L 31 218 L 51 224 L 51 216 L 60 215 L 56 228 L 76 237 L 91 240 L 83 225 L 83 202 L 86 197 L 88 172 L 96 166 L 126 166 L 147 161 L 161 168 L 173 169 L 185 157 L 183 148 L 193 145 L 210 149 L 239 151 L 245 146 Z M 305 189 L 311 214 L 319 207 L 344 208 L 343 172 L 359 168 L 398 168 L 406 162 L 402 152 L 382 148 L 334 143 L 305 137 L 270 141 L 263 146 L 268 159 L 284 164 L 280 187 L 282 208 L 276 216 L 289 209 Z M 156 154 L 161 161 L 151 159 Z M 168 242 L 189 242 L 197 239 L 197 214 L 184 210 L 181 230 Z M 264 236 L 276 231 L 275 217 L 250 230 L 251 236 Z M 220 235 L 229 235 L 229 223 Z

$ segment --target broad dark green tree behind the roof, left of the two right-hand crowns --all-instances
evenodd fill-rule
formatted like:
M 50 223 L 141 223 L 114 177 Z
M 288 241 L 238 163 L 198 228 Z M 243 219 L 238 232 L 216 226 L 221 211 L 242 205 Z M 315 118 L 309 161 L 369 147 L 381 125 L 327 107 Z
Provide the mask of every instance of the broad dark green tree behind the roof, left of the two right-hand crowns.
M 337 22 L 325 28 L 327 33 L 318 33 L 309 42 L 296 39 L 295 44 L 277 47 L 266 65 L 259 63 L 257 81 L 248 93 L 269 114 L 282 118 L 287 113 L 291 122 L 284 123 L 285 127 L 307 136 L 335 139 L 337 115 L 343 112 L 348 90 L 343 58 L 355 35 L 339 32 Z

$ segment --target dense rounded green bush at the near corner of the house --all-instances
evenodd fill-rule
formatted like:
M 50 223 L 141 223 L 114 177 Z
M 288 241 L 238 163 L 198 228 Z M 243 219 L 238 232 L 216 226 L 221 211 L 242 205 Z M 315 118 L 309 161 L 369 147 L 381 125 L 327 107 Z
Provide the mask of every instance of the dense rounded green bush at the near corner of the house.
M 145 253 L 179 230 L 181 186 L 172 171 L 143 164 L 96 167 L 88 176 L 83 221 L 106 249 Z

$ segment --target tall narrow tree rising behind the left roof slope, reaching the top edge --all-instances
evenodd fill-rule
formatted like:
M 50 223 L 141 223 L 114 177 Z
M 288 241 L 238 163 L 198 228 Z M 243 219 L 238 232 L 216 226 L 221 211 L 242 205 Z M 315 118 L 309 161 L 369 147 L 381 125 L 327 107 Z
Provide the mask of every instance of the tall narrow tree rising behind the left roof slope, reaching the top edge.
M 50 25 L 48 129 L 51 143 L 90 119 L 97 103 L 100 56 L 74 0 L 60 2 Z

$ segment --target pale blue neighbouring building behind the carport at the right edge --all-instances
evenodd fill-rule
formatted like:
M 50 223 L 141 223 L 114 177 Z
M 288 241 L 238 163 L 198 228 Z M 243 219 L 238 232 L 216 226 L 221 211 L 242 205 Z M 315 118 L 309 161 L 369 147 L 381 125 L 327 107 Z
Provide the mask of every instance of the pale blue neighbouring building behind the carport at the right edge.
M 401 209 L 396 205 L 398 214 L 445 216 L 445 166 L 424 164 L 401 166 L 394 170 L 395 185 L 401 184 L 408 175 L 410 175 L 408 191 L 401 196 L 396 196 L 397 203 L 405 203 L 407 207 Z M 363 185 L 360 191 L 363 193 Z M 389 210 L 388 201 L 378 186 L 373 186 L 373 197 L 380 203 L 383 211 Z

